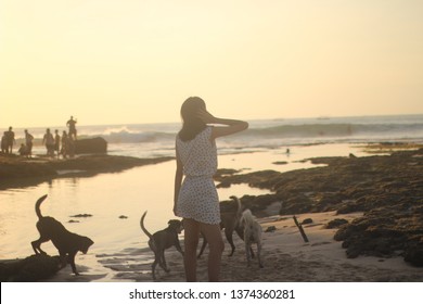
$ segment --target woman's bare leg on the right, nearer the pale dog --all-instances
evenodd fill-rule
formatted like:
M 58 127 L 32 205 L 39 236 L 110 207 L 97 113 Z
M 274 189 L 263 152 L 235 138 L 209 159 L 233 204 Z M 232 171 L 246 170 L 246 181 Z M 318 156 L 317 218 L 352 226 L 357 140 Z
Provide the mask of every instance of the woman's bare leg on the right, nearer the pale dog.
M 225 249 L 219 225 L 200 224 L 201 231 L 207 240 L 208 253 L 208 280 L 217 282 L 220 278 L 221 255 Z

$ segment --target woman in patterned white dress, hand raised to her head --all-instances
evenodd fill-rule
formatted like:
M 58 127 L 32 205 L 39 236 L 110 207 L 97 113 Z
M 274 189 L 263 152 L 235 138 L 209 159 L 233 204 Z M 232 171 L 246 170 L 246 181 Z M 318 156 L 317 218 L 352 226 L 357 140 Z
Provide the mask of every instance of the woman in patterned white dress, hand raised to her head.
M 196 248 L 202 232 L 209 244 L 208 280 L 218 281 L 225 244 L 219 198 L 213 180 L 217 170 L 215 139 L 242 131 L 248 123 L 213 116 L 198 97 L 183 102 L 181 116 L 183 125 L 176 138 L 174 213 L 183 218 L 185 279 L 196 281 Z

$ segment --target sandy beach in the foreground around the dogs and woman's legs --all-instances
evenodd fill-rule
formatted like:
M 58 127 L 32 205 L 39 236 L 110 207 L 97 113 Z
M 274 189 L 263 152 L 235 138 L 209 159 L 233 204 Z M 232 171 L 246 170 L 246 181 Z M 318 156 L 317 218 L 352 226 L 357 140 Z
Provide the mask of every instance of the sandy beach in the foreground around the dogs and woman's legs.
M 349 214 L 343 218 L 354 219 L 362 214 Z M 296 215 L 299 220 L 311 218 L 312 224 L 304 225 L 309 242 L 304 242 L 292 216 L 261 218 L 264 227 L 274 227 L 264 235 L 264 268 L 256 259 L 247 267 L 244 243 L 234 237 L 236 250 L 228 256 L 230 246 L 226 243 L 222 256 L 221 281 L 223 282 L 421 282 L 423 271 L 412 267 L 400 256 L 381 258 L 360 256 L 347 258 L 341 242 L 333 239 L 336 229 L 325 229 L 324 225 L 337 218 L 333 212 Z M 254 248 L 254 250 L 256 250 Z M 198 259 L 198 280 L 207 281 L 207 252 Z M 127 249 L 121 254 L 98 256 L 99 268 L 85 268 L 82 276 L 76 277 L 67 267 L 47 281 L 84 282 L 110 281 L 110 275 L 101 274 L 101 267 L 113 271 L 113 281 L 154 282 L 151 264 L 154 256 L 149 249 Z M 183 282 L 184 273 L 181 255 L 175 250 L 166 251 L 170 273 L 158 268 L 156 282 Z M 84 264 L 84 257 L 79 258 Z M 98 273 L 95 273 L 98 271 Z M 104 271 L 104 269 L 103 269 Z

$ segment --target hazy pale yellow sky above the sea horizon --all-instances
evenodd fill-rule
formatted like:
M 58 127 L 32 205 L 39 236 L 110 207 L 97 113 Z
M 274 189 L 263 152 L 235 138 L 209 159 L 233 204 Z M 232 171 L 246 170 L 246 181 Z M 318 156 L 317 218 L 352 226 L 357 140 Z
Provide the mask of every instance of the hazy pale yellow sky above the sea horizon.
M 0 128 L 423 113 L 422 0 L 0 0 Z

